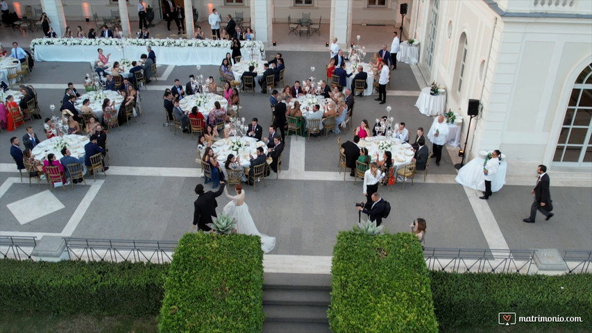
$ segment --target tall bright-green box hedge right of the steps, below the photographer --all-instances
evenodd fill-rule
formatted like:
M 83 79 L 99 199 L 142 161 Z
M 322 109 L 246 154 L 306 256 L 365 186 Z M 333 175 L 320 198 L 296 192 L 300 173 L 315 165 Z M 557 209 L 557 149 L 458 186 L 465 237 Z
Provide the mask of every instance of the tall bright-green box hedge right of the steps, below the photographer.
M 428 268 L 413 234 L 339 232 L 331 271 L 333 333 L 438 332 Z

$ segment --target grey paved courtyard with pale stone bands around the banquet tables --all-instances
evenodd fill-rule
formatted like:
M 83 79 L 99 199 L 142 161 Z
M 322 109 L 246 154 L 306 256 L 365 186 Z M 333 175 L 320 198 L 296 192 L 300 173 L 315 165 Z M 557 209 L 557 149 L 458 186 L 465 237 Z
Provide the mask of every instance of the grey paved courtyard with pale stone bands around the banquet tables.
M 2 40 L 2 44 L 9 44 Z M 267 50 L 268 56 L 275 52 Z M 326 52 L 283 51 L 286 62 L 285 83 L 304 80 L 316 67 L 314 76 L 325 78 Z M 139 56 L 139 55 L 137 55 Z M 157 55 L 158 57 L 158 55 Z M 83 89 L 88 71 L 86 63 L 36 62 L 32 84 L 39 92 L 43 117 L 49 117 L 50 104 L 59 105 L 66 83 Z M 0 234 L 35 236 L 39 247 L 51 249 L 62 237 L 100 239 L 177 240 L 192 232 L 194 187 L 203 183 L 195 163 L 196 138 L 173 135 L 163 127 L 162 92 L 175 78 L 183 84 L 189 74 L 198 74 L 195 67 L 159 66 L 158 82 L 142 88 L 141 117 L 109 131 L 111 167 L 107 176 L 87 178 L 88 186 L 76 185 L 49 191 L 46 182 L 41 189 L 35 180 L 20 181 L 10 157 L 10 137 L 22 137 L 25 130 L 0 133 Z M 216 66 L 202 66 L 199 74 L 217 77 Z M 391 105 L 396 121 L 405 121 L 410 133 L 419 126 L 426 133 L 431 117 L 418 112 L 414 104 L 425 87 L 416 68 L 399 64 L 387 86 L 386 105 L 378 105 L 376 96 L 356 98 L 353 124 L 362 119 L 373 123 Z M 267 133 L 271 122 L 269 96 L 241 94 L 241 115 L 257 117 Z M 57 113 L 57 110 L 56 110 Z M 27 124 L 40 137 L 42 120 Z M 353 133 L 341 133 L 344 140 Z M 414 134 L 413 134 L 414 137 Z M 428 144 L 431 150 L 431 144 Z M 24 148 L 22 146 L 22 148 Z M 523 223 L 529 213 L 536 182 L 532 177 L 509 177 L 507 185 L 490 200 L 479 200 L 480 193 L 457 185 L 453 164 L 459 162 L 457 148 L 444 151 L 441 167 L 432 164 L 428 178 L 416 175 L 414 186 L 400 183 L 392 189 L 383 188 L 383 197 L 391 202 L 391 215 L 384 223 L 390 232 L 408 232 L 409 224 L 418 216 L 428 221 L 426 246 L 446 248 L 557 248 L 563 250 L 592 249 L 591 179 L 571 179 L 569 173 L 550 171 L 551 194 L 555 217 L 544 221 L 539 215 L 534 224 Z M 277 237 L 271 255 L 330 256 L 340 230 L 349 230 L 357 221 L 355 202 L 364 199 L 362 182 L 339 174 L 337 168 L 337 136 L 325 139 L 292 136 L 287 139 L 282 173 L 267 178 L 267 187 L 257 184 L 257 191 L 246 187 L 246 203 L 259 230 Z M 206 189 L 210 186 L 206 185 Z M 218 200 L 221 212 L 228 199 Z

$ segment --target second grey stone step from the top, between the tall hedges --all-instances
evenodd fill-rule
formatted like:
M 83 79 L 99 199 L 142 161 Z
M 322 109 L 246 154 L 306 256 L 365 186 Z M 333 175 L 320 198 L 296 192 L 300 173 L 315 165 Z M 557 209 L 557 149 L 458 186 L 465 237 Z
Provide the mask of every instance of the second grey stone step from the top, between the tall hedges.
M 263 305 L 329 306 L 329 289 L 264 289 Z

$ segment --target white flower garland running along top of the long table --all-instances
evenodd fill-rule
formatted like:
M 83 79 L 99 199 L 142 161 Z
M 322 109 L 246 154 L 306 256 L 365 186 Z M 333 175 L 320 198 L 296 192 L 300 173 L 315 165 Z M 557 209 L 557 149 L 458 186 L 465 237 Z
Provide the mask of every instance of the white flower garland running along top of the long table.
M 136 39 L 136 38 L 35 38 L 31 41 L 31 50 L 35 51 L 35 45 L 85 45 L 85 46 L 177 46 L 177 47 L 220 47 L 230 49 L 230 40 L 171 40 L 163 39 Z M 244 49 L 255 49 L 264 56 L 265 46 L 259 40 L 241 42 Z

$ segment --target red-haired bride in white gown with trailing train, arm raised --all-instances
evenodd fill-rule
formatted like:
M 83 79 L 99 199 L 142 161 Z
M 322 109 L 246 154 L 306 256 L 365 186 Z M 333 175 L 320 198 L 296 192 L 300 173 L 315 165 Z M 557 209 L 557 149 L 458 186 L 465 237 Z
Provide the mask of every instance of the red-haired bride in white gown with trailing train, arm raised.
M 224 187 L 224 194 L 232 201 L 224 206 L 222 214 L 235 219 L 237 222 L 237 232 L 239 234 L 259 235 L 261 237 L 261 249 L 264 253 L 269 253 L 269 251 L 276 247 L 276 237 L 267 236 L 267 234 L 262 234 L 257 230 L 253 217 L 251 217 L 251 213 L 248 212 L 248 205 L 244 203 L 245 192 L 240 184 L 235 185 L 235 191 L 237 191 L 236 196 L 230 196 L 226 188 L 227 187 Z

